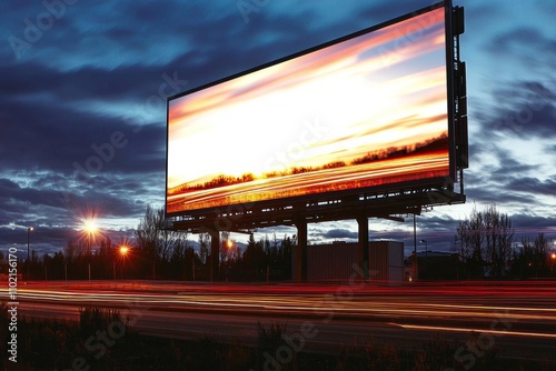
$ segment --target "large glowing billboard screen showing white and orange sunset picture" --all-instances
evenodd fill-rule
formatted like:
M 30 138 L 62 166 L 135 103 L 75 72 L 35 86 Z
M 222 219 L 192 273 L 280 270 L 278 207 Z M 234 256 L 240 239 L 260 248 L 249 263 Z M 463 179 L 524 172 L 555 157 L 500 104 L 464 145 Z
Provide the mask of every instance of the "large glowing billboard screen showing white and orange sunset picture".
M 167 214 L 453 179 L 449 11 L 170 97 Z

